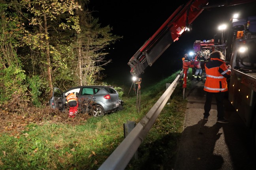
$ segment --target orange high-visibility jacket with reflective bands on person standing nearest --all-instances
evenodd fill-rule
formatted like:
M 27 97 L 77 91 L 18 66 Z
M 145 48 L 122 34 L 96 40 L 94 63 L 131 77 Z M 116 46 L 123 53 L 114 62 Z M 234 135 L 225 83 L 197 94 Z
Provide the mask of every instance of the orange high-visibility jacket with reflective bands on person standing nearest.
M 206 92 L 228 91 L 227 77 L 230 76 L 230 69 L 226 63 L 218 58 L 211 58 L 205 63 L 206 81 L 203 90 Z

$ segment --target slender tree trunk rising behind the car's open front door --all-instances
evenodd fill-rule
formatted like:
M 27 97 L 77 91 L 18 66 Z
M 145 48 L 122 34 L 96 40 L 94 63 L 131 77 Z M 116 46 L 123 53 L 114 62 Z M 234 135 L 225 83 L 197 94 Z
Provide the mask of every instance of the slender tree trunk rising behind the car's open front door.
M 46 15 L 43 15 L 44 18 L 44 30 L 45 30 L 45 45 L 46 45 L 46 58 L 47 58 L 47 73 L 48 73 L 48 80 L 49 80 L 49 88 L 51 90 L 50 96 L 53 93 L 53 83 L 51 79 L 51 60 L 50 60 L 50 50 L 49 50 L 49 37 L 48 37 L 48 28 L 47 28 L 47 20 Z

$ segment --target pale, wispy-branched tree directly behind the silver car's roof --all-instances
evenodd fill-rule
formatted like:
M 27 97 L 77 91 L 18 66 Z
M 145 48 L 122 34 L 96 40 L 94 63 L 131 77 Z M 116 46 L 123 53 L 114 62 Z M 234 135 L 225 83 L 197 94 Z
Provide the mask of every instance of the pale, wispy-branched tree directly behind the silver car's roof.
M 102 66 L 111 61 L 105 60 L 108 53 L 103 52 L 104 48 L 122 37 L 112 35 L 109 25 L 101 27 L 99 19 L 95 19 L 88 9 L 77 11 L 77 15 L 81 25 L 81 33 L 77 34 L 73 45 L 78 61 L 75 65 L 77 83 L 81 86 L 92 85 L 102 80 Z

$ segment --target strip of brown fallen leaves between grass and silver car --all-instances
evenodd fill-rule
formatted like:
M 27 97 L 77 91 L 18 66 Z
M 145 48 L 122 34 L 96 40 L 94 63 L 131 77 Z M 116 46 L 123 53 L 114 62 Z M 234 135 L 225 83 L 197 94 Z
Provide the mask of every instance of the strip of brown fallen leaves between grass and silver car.
M 85 123 L 90 116 L 88 114 L 77 114 L 75 119 L 68 119 L 68 111 L 60 112 L 57 109 L 45 106 L 42 108 L 26 107 L 26 110 L 20 109 L 19 112 L 13 111 L 4 105 L 0 105 L 0 131 L 23 131 L 30 123 L 43 125 L 45 121 L 53 123 L 65 123 L 79 125 Z

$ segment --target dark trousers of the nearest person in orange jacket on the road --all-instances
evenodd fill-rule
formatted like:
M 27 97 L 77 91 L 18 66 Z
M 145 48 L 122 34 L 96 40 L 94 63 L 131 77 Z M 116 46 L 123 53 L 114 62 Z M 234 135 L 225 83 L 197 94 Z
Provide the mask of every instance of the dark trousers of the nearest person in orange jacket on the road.
M 209 112 L 211 110 L 211 102 L 213 99 L 213 95 L 215 95 L 216 103 L 217 103 L 217 117 L 222 118 L 224 117 L 224 92 L 218 92 L 218 93 L 212 93 L 212 92 L 206 92 L 206 101 L 204 105 L 205 113 L 204 115 L 209 115 Z

